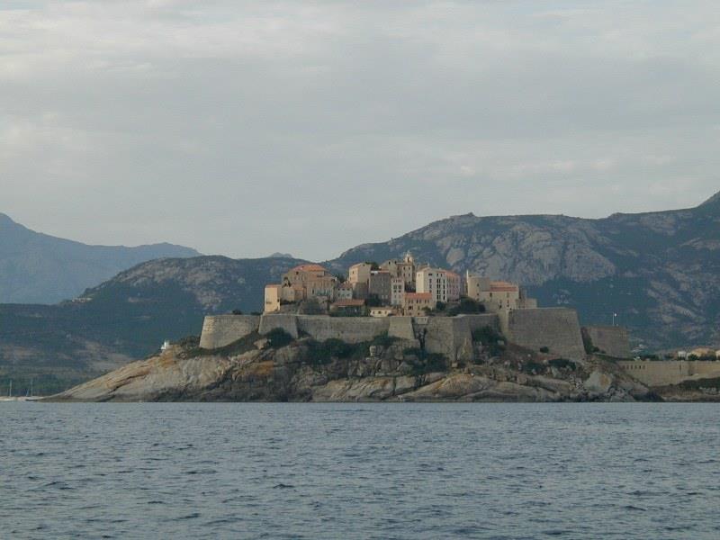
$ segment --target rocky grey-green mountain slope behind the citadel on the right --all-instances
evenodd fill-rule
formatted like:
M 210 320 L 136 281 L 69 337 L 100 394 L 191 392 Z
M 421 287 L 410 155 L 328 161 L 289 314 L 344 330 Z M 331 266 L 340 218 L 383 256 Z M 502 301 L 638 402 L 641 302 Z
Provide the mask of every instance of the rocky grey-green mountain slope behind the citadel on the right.
M 696 208 L 437 221 L 331 262 L 421 261 L 525 284 L 541 305 L 576 308 L 586 324 L 617 322 L 648 347 L 720 343 L 720 193 Z

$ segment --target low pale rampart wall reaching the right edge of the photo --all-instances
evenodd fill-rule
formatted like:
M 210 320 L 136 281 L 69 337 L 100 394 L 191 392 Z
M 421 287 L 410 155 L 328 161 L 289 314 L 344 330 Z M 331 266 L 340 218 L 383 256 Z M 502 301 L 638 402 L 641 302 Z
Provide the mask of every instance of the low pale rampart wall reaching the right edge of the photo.
M 720 377 L 720 362 L 707 360 L 620 360 L 627 374 L 648 386 L 679 384 L 689 379 Z

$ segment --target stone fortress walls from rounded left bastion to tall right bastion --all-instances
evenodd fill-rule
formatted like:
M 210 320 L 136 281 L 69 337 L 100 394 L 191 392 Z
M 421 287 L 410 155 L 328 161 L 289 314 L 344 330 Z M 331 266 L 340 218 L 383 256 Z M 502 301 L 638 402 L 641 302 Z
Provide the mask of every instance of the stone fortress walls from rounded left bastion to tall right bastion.
M 569 359 L 584 357 L 577 314 L 572 310 L 520 310 L 535 313 L 533 318 L 509 318 L 506 331 L 511 342 L 521 347 L 552 346 L 551 352 Z M 539 322 L 538 322 L 539 320 Z M 533 325 L 538 325 L 534 328 Z M 218 348 L 229 345 L 257 331 L 266 335 L 272 329 L 284 329 L 293 338 L 308 335 L 325 341 L 338 338 L 347 343 L 370 341 L 385 332 L 393 338 L 417 343 L 419 332 L 424 332 L 428 352 L 440 353 L 450 360 L 469 360 L 473 356 L 472 333 L 475 329 L 491 326 L 500 329 L 496 314 L 460 315 L 457 317 L 328 317 L 325 315 L 296 315 L 275 313 L 257 316 L 220 315 L 205 318 L 200 346 Z M 427 330 L 427 332 L 425 332 Z M 555 346 L 557 344 L 557 346 Z

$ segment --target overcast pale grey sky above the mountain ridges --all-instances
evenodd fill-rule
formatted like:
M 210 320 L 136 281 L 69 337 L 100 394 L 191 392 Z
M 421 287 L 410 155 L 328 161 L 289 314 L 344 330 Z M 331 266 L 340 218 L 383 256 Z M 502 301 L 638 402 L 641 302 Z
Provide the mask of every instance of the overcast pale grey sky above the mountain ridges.
M 720 190 L 712 1 L 0 3 L 0 211 L 323 260 Z

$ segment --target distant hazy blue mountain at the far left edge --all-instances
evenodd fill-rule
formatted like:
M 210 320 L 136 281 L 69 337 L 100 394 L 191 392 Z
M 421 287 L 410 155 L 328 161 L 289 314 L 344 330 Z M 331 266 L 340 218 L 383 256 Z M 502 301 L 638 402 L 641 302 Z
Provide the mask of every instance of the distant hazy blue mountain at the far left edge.
M 144 261 L 198 255 L 172 244 L 87 246 L 26 229 L 0 213 L 0 302 L 61 302 Z

